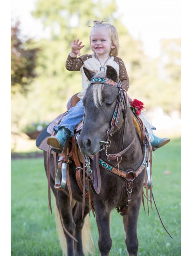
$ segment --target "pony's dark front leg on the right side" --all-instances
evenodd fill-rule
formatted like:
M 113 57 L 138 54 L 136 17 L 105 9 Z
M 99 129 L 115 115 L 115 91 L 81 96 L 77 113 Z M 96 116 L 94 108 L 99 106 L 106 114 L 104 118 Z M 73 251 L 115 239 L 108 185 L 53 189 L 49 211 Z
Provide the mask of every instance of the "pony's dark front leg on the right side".
M 135 202 L 135 203 L 134 203 Z M 137 238 L 137 222 L 139 216 L 141 197 L 129 206 L 128 213 L 123 216 L 126 233 L 126 246 L 129 256 L 137 256 L 139 241 Z

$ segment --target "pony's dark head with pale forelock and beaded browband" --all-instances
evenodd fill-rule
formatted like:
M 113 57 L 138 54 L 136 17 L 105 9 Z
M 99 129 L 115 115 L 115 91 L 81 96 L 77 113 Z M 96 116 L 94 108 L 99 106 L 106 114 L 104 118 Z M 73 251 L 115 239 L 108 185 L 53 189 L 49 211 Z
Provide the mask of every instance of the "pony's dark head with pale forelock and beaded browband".
M 105 140 L 117 104 L 119 89 L 112 84 L 118 84 L 118 75 L 112 66 L 107 66 L 106 73 L 95 74 L 85 67 L 84 72 L 90 85 L 83 99 L 84 123 L 78 143 L 81 154 L 94 155 L 100 150 L 100 141 Z

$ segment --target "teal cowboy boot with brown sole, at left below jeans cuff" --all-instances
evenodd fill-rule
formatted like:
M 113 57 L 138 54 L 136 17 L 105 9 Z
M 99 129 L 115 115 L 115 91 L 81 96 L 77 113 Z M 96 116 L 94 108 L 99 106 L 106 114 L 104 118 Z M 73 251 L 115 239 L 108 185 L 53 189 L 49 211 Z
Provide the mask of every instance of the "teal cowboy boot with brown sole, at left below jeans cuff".
M 70 133 L 70 130 L 62 127 L 58 130 L 55 136 L 50 136 L 48 138 L 47 144 L 52 146 L 53 151 L 55 151 L 56 153 L 62 153 L 62 149 Z

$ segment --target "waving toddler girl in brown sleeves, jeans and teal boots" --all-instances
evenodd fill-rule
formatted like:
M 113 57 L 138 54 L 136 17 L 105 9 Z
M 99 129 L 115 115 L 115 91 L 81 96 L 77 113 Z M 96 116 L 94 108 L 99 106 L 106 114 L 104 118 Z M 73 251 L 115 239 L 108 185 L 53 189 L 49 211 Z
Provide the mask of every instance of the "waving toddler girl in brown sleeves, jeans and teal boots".
M 74 40 L 71 46 L 71 52 L 66 60 L 66 69 L 70 71 L 80 70 L 82 77 L 82 91 L 78 94 L 80 101 L 75 107 L 71 107 L 67 114 L 63 117 L 58 126 L 54 126 L 56 136 L 48 138 L 47 143 L 52 146 L 52 149 L 61 153 L 66 139 L 74 135 L 75 127 L 82 121 L 84 116 L 84 106 L 82 105 L 82 98 L 85 95 L 89 80 L 87 79 L 83 67 L 98 73 L 99 71 L 105 71 L 106 66 L 110 65 L 116 69 L 119 75 L 119 80 L 122 83 L 123 88 L 127 91 L 129 88 L 129 78 L 127 75 L 126 67 L 123 60 L 118 55 L 119 41 L 118 32 L 116 28 L 103 19 L 101 22 L 95 20 L 94 27 L 90 32 L 90 45 L 92 54 L 80 56 L 80 50 L 84 47 L 79 39 Z M 148 131 L 151 135 L 152 148 L 160 148 L 170 141 L 168 138 L 161 139 L 156 137 L 152 130 Z M 153 140 L 153 141 L 152 141 Z

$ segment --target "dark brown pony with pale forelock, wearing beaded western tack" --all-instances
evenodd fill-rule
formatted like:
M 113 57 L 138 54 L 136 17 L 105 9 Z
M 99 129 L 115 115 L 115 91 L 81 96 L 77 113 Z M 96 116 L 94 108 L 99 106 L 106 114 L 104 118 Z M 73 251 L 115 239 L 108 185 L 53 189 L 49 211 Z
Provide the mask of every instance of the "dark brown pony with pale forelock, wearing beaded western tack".
M 66 237 L 67 255 L 88 253 L 83 251 L 82 237 L 89 244 L 88 251 L 93 247 L 86 221 L 91 209 L 96 216 L 100 254 L 109 255 L 112 247 L 110 214 L 116 208 L 123 216 L 128 254 L 136 256 L 139 245 L 137 222 L 146 174 L 145 136 L 141 138 L 138 133 L 133 112 L 128 107 L 127 93 L 119 83 L 116 70 L 107 66 L 105 73 L 95 74 L 84 67 L 84 72 L 90 85 L 83 99 L 85 113 L 82 130 L 77 136 L 80 152 L 84 156 L 84 166 L 79 168 L 84 170 L 82 179 L 88 182 L 88 185 L 84 184 L 84 191 L 77 184 L 77 167 L 73 160 L 68 163 L 70 186 L 56 190 L 55 159 L 50 154 L 48 162 L 48 154 L 44 153 L 44 166 L 56 199 L 58 222 Z M 87 200 L 85 190 L 89 192 Z M 85 222 L 85 233 L 89 235 L 82 235 Z

